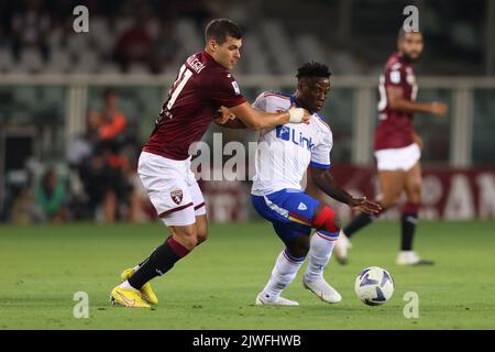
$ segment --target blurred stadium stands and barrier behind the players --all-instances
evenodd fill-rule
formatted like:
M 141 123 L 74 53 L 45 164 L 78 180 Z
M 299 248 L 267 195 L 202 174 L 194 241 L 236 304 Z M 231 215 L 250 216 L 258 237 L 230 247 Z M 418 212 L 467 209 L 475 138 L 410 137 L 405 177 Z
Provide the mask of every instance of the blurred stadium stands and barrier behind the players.
M 78 4 L 89 9 L 88 33 L 73 30 Z M 304 62 L 331 67 L 322 114 L 333 130 L 334 174 L 372 197 L 378 75 L 407 4 L 418 7 L 425 34 L 418 99 L 450 107 L 446 119 L 415 120 L 425 140 L 421 216 L 493 219 L 495 1 L 28 0 L 0 1 L 0 221 L 153 220 L 135 174 L 140 147 L 179 65 L 204 48 L 205 24 L 219 16 L 246 31 L 234 74 L 250 100 L 292 92 Z M 106 125 L 105 111 L 120 124 Z M 222 132 L 224 143 L 256 141 Z M 254 217 L 249 182 L 202 188 L 213 222 Z

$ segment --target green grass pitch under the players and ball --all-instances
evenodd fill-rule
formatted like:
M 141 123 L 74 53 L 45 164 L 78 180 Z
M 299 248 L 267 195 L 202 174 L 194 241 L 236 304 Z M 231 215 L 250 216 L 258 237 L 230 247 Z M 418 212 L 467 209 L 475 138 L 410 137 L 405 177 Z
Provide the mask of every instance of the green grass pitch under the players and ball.
M 282 242 L 265 222 L 212 224 L 210 239 L 153 280 L 153 310 L 113 307 L 109 293 L 123 268 L 166 237 L 160 224 L 0 227 L 0 329 L 495 329 L 495 223 L 421 222 L 416 249 L 432 267 L 395 264 L 398 222 L 377 222 L 353 239 L 350 264 L 333 260 L 326 277 L 342 294 L 328 305 L 305 290 L 299 272 L 285 290 L 299 307 L 256 307 Z M 371 265 L 395 279 L 380 307 L 354 295 Z M 76 319 L 74 294 L 89 296 Z M 406 319 L 403 297 L 419 295 L 419 318 Z

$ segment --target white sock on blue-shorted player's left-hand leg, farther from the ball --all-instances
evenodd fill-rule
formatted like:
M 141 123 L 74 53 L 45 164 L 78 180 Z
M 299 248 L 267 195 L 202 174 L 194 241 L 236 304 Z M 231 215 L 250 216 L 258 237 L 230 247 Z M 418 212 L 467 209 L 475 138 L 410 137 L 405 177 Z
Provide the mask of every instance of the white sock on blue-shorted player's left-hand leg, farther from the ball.
M 287 249 L 278 254 L 272 277 L 263 289 L 263 299 L 275 300 L 282 290 L 296 278 L 297 272 L 305 262 L 305 257 L 292 256 Z

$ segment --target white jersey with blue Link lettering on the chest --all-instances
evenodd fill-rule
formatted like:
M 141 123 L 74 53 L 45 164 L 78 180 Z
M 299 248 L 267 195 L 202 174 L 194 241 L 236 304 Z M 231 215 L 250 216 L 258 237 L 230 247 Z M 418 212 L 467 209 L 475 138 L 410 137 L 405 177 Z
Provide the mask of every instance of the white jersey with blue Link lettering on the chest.
M 263 92 L 253 103 L 265 112 L 290 108 L 295 96 Z M 330 168 L 333 138 L 330 127 L 317 113 L 309 123 L 286 123 L 262 130 L 255 154 L 256 174 L 251 193 L 264 196 L 284 188 L 301 189 L 308 165 Z

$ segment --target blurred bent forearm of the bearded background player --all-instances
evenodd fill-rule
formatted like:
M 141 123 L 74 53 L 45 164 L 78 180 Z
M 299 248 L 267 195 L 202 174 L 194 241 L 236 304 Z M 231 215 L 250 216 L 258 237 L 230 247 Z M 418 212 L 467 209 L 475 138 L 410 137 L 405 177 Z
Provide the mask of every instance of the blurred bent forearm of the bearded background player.
M 404 90 L 400 87 L 387 87 L 388 107 L 394 111 L 414 113 L 424 112 L 439 117 L 444 117 L 448 107 L 441 102 L 415 102 L 404 98 Z

